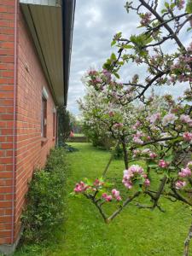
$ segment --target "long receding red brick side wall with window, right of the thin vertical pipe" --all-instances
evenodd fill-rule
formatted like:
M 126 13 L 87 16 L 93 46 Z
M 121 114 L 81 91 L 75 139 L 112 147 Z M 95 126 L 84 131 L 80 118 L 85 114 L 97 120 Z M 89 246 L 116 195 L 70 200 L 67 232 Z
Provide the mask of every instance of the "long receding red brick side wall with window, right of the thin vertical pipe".
M 47 138 L 41 141 L 42 90 L 47 100 Z M 17 84 L 17 150 L 15 176 L 15 237 L 20 230 L 20 213 L 25 202 L 27 183 L 35 168 L 44 166 L 49 148 L 55 146 L 53 110 L 55 104 L 44 71 L 38 60 L 26 22 L 19 12 L 18 84 Z

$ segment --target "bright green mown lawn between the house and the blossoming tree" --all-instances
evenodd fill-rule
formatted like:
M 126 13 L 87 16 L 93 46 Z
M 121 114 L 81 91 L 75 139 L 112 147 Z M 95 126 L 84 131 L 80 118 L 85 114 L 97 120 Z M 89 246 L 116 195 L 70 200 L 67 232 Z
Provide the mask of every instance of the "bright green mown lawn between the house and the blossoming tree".
M 93 148 L 89 143 L 71 144 L 79 151 L 68 154 L 71 174 L 67 179 L 67 195 L 82 177 L 101 176 L 109 158 L 107 151 Z M 113 160 L 108 179 L 115 177 L 120 183 L 123 169 L 122 160 Z M 15 256 L 183 255 L 183 241 L 191 221 L 189 209 L 166 200 L 161 205 L 166 213 L 126 207 L 111 224 L 104 224 L 90 201 L 67 196 L 66 221 L 63 230 L 55 231 L 55 241 L 20 247 Z

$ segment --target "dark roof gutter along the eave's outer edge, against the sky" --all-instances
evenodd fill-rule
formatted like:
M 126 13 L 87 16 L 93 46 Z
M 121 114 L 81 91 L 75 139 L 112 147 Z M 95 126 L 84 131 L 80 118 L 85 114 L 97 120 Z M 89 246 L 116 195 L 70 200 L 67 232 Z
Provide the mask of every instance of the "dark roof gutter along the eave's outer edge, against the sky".
M 63 40 L 63 81 L 64 106 L 67 106 L 68 83 L 73 42 L 73 24 L 76 0 L 62 1 L 62 40 Z

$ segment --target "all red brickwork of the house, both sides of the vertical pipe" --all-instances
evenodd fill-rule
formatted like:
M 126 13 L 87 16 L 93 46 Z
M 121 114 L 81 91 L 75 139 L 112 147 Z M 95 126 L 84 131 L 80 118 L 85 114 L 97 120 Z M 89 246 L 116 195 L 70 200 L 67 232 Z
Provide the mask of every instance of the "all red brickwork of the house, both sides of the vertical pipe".
M 27 183 L 35 168 L 44 166 L 49 148 L 55 146 L 53 109 L 44 71 L 18 9 L 15 180 L 13 181 L 14 127 L 14 20 L 15 0 L 0 0 L 0 244 L 11 243 L 11 213 L 14 193 L 15 239 L 20 232 L 20 214 L 25 204 Z M 47 100 L 47 142 L 41 138 L 42 90 Z

